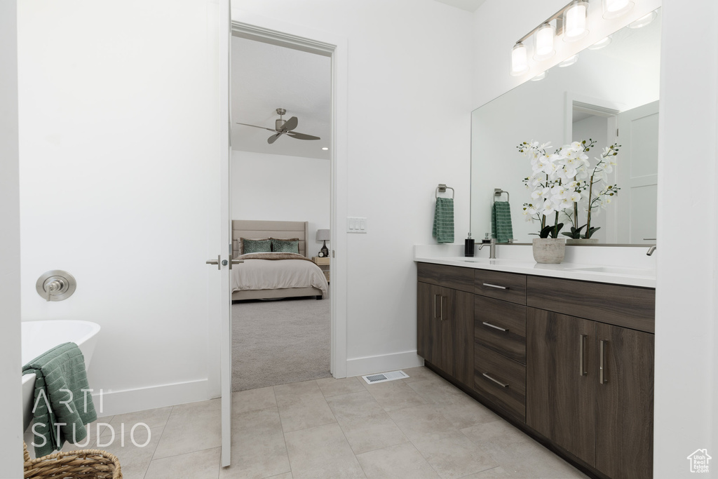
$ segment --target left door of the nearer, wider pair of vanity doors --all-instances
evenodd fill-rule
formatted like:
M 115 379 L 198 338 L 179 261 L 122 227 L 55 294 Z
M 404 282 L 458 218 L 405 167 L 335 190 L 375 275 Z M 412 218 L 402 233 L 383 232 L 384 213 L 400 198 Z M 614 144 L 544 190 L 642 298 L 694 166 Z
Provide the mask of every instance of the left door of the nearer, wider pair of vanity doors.
M 526 424 L 589 465 L 596 462 L 596 323 L 528 308 Z

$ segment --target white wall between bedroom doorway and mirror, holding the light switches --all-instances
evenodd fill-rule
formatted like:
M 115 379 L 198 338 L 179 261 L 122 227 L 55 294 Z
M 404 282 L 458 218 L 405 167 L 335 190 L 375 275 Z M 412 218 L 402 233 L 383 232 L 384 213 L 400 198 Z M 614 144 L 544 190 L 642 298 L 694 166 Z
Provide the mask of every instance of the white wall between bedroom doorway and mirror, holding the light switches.
M 241 11 L 347 38 L 348 374 L 416 356 L 415 243 L 434 243 L 434 190 L 456 190 L 456 240 L 469 231 L 471 14 L 433 0 L 233 2 Z M 342 221 L 343 222 L 343 221 Z M 337 231 L 345 229 L 336 225 Z M 378 358 L 373 358 L 378 356 Z

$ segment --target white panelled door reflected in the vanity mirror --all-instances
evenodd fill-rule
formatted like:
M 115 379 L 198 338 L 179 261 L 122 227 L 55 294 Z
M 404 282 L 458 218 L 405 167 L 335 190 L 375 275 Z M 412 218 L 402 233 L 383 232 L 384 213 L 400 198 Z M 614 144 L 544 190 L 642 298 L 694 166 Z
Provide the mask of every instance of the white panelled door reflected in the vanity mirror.
M 656 243 L 658 101 L 617 116 L 618 243 Z

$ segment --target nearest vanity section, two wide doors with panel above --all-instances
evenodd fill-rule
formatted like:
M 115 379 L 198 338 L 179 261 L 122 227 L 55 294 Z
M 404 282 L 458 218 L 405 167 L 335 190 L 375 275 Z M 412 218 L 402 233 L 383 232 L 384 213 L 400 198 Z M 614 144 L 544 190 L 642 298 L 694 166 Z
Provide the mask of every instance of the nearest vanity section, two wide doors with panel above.
M 653 334 L 640 329 L 653 331 L 655 292 L 550 283 L 556 298 L 587 288 L 584 306 L 571 309 L 591 319 L 528 308 L 526 424 L 610 478 L 651 478 Z M 528 304 L 566 310 L 559 302 L 546 303 L 546 287 L 529 276 Z M 617 306 L 626 301 L 633 302 L 630 308 Z

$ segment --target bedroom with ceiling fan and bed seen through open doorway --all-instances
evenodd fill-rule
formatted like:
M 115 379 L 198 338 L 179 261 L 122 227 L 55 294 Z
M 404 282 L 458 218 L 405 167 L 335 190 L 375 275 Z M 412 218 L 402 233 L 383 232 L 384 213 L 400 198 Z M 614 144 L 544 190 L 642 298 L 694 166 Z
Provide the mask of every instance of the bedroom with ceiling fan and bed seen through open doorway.
M 233 31 L 232 390 L 332 376 L 332 59 Z

